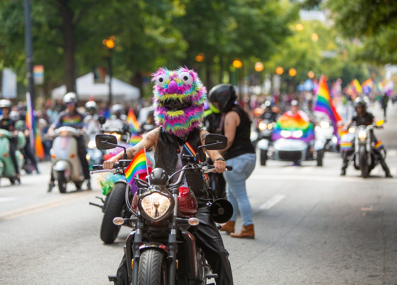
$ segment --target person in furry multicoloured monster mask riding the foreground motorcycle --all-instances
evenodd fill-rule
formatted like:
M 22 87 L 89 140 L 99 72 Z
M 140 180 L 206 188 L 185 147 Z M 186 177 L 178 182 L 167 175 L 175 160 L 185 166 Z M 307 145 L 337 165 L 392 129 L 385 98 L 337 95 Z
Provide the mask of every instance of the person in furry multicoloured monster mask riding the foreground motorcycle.
M 164 168 L 168 174 L 172 174 L 185 164 L 181 156 L 187 154 L 183 147 L 186 143 L 191 143 L 194 150 L 198 145 L 204 145 L 208 132 L 201 129 L 199 124 L 204 115 L 206 88 L 197 73 L 186 68 L 179 68 L 176 71 L 160 68 L 152 75 L 152 82 L 156 82 L 153 88 L 154 117 L 160 128 L 143 135 L 141 142 L 128 148 L 127 159 L 132 159 L 143 148 L 149 150 L 153 147 L 156 167 Z M 226 163 L 220 153 L 216 150 L 206 150 L 206 152 L 214 161 L 215 172 L 224 172 Z M 205 161 L 205 157 L 205 153 L 200 151 L 201 161 Z M 123 159 L 123 152 L 105 161 L 103 168 L 113 168 L 113 164 L 120 159 Z M 177 179 L 178 176 L 174 177 L 174 182 Z M 206 183 L 200 174 L 189 173 L 186 174 L 184 185 L 192 189 L 197 199 L 196 217 L 200 220 L 200 225 L 194 233 L 196 243 L 204 252 L 214 274 L 218 274 L 216 283 L 233 285 L 231 267 L 227 258 L 229 253 L 224 248 L 222 237 L 210 218 L 206 201 L 203 200 L 208 199 Z M 117 279 L 118 285 L 129 284 L 125 254 L 117 271 Z

